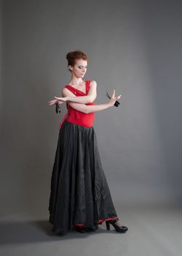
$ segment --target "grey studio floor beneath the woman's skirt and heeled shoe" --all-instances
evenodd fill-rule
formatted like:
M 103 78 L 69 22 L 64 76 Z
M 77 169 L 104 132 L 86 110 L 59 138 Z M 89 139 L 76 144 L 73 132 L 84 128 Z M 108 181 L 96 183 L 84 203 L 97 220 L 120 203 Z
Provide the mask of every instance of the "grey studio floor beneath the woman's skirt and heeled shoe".
M 106 223 L 91 233 L 69 231 L 55 236 L 47 213 L 22 213 L 0 220 L 1 256 L 127 255 L 181 256 L 182 209 L 177 207 L 124 207 L 117 209 L 127 233 L 116 233 Z

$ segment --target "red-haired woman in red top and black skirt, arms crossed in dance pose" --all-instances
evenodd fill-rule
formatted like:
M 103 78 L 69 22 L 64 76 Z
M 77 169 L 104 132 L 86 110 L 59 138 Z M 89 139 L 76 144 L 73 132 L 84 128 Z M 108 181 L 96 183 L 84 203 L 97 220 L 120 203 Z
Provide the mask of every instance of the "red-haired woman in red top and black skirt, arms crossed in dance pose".
M 68 113 L 60 124 L 58 146 L 52 170 L 50 192 L 50 222 L 52 231 L 65 234 L 75 228 L 81 233 L 98 229 L 106 222 L 120 233 L 127 227 L 119 222 L 110 190 L 103 172 L 98 143 L 93 128 L 95 112 L 111 108 L 116 99 L 95 105 L 97 83 L 82 80 L 87 72 L 87 56 L 80 50 L 66 55 L 71 81 L 62 89 L 63 97 L 49 104 L 66 102 Z

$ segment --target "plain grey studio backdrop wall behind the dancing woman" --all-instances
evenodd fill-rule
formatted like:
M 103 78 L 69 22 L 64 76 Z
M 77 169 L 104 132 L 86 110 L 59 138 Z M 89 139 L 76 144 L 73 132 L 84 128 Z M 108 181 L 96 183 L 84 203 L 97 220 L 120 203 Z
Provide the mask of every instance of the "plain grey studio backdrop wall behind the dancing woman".
M 117 208 L 181 204 L 181 1 L 1 2 L 1 216 L 47 211 L 59 124 L 48 105 L 70 81 L 66 53 L 83 50 L 95 132 Z

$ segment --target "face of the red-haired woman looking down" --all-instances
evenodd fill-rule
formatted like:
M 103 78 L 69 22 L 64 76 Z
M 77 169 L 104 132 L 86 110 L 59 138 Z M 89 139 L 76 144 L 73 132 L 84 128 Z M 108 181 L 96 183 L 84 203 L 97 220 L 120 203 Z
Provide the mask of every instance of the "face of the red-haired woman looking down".
M 69 68 L 77 78 L 83 78 L 87 72 L 87 61 L 84 61 L 84 59 L 76 59 L 74 67 L 69 66 Z

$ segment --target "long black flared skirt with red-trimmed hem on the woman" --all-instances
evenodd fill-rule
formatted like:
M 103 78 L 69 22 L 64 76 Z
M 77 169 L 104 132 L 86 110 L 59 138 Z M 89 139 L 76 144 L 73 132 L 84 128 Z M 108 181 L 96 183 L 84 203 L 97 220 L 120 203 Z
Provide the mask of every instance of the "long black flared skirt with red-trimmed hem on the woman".
M 100 162 L 93 127 L 64 121 L 60 128 L 50 186 L 52 232 L 75 226 L 95 228 L 117 217 Z

